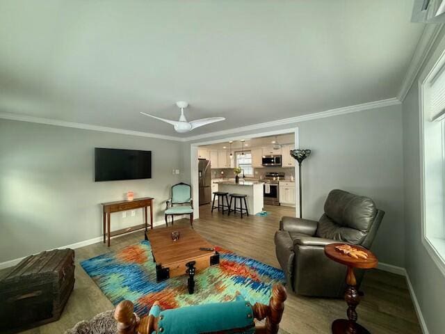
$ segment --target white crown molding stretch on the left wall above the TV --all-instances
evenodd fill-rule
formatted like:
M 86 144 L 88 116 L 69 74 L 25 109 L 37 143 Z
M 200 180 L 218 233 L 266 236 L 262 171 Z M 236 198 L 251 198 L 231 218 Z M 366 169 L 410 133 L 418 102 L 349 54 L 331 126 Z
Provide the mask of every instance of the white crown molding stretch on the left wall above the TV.
M 128 134 L 130 136 L 140 136 L 149 138 L 165 139 L 167 141 L 183 141 L 183 138 L 175 136 L 165 136 L 163 134 L 150 134 L 149 132 L 139 132 L 127 129 L 117 129 L 115 127 L 102 127 L 100 125 L 90 125 L 76 122 L 66 122 L 65 120 L 53 120 L 51 118 L 41 118 L 35 116 L 18 115 L 15 113 L 0 113 L 0 118 L 5 120 L 19 120 L 21 122 L 32 122 L 47 125 L 56 125 L 58 127 L 74 127 L 76 129 L 92 130 L 100 132 L 112 132 L 114 134 Z

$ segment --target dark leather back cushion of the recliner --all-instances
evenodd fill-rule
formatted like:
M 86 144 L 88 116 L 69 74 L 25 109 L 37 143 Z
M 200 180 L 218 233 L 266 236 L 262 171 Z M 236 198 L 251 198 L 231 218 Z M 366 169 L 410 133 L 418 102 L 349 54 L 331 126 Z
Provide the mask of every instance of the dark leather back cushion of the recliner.
M 326 198 L 325 214 L 320 218 L 316 236 L 361 244 L 376 214 L 371 198 L 332 190 Z

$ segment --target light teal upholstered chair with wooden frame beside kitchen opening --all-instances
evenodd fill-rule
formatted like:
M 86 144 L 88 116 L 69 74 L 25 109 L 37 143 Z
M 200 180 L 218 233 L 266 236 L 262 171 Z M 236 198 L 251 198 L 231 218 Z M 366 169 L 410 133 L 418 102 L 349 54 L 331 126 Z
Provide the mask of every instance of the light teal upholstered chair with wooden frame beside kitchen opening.
M 172 217 L 173 225 L 174 216 L 181 214 L 190 215 L 190 225 L 193 228 L 192 187 L 183 182 L 172 186 L 172 198 L 167 200 L 164 212 L 165 225 L 168 226 L 168 216 Z

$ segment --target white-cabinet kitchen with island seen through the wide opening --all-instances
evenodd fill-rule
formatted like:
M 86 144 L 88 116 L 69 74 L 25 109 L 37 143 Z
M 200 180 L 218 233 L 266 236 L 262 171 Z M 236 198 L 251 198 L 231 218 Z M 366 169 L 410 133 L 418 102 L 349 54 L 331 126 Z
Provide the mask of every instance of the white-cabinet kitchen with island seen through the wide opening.
M 200 205 L 213 193 L 243 193 L 250 214 L 264 205 L 296 206 L 294 134 L 241 139 L 198 148 Z M 235 168 L 239 168 L 236 182 Z M 217 197 L 218 198 L 218 197 Z

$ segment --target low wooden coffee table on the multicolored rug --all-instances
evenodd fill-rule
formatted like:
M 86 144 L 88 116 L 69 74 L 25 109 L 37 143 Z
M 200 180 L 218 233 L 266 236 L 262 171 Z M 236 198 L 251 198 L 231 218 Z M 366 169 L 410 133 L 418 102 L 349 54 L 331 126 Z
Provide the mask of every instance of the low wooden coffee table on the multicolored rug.
M 172 240 L 173 231 L 180 233 L 179 240 Z M 190 265 L 186 265 L 190 262 L 195 262 L 192 266 L 194 269 L 204 269 L 220 263 L 220 255 L 213 249 L 213 245 L 192 228 L 155 228 L 145 233 L 145 239 L 152 245 L 158 282 L 186 273 L 191 274 Z M 200 250 L 202 247 L 212 250 Z

